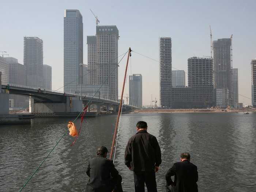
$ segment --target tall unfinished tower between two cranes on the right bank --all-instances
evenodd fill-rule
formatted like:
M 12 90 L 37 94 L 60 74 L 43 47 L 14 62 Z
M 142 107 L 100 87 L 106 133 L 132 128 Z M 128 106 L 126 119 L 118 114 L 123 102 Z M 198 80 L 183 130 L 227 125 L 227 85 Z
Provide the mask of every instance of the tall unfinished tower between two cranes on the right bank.
M 213 41 L 213 69 L 214 69 L 214 88 L 216 89 L 228 89 L 228 91 L 222 91 L 219 93 L 225 93 L 229 95 L 227 105 L 231 104 L 231 38 L 218 39 Z

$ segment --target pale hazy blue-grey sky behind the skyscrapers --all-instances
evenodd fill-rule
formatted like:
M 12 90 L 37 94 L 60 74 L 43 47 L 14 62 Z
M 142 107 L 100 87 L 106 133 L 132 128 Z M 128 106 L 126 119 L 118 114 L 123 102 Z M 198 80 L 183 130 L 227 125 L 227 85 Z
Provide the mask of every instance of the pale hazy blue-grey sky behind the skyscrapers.
M 78 9 L 83 16 L 85 64 L 86 36 L 96 33 L 95 18 L 89 9 L 98 16 L 99 25 L 116 25 L 120 35 L 118 55 L 129 47 L 134 50 L 128 74 L 142 74 L 143 105 L 150 104 L 151 94 L 153 100 L 159 101 L 159 63 L 140 54 L 158 60 L 159 37 L 171 37 L 172 67 L 187 72 L 189 57 L 210 56 L 211 25 L 213 40 L 233 34 L 233 68 L 238 68 L 239 102 L 251 105 L 248 98 L 251 98 L 251 59 L 256 58 L 255 0 L 10 0 L 0 1 L 0 7 L 0 51 L 6 51 L 23 64 L 23 37 L 43 39 L 44 64 L 52 66 L 53 90 L 63 86 L 64 10 Z M 119 95 L 125 64 L 126 57 L 118 69 Z M 126 94 L 129 94 L 128 83 Z

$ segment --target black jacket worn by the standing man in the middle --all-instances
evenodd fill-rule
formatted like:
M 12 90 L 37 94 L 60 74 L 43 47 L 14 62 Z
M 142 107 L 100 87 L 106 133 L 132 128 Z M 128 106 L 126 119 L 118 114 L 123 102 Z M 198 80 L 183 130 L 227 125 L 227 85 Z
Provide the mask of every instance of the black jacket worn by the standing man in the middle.
M 154 170 L 162 162 L 157 138 L 146 130 L 138 131 L 127 143 L 124 160 L 134 172 Z

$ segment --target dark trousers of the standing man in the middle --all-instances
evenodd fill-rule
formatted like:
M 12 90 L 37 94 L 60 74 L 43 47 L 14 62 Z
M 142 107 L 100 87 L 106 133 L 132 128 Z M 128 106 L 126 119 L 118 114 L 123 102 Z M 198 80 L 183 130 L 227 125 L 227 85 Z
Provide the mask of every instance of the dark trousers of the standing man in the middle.
M 135 192 L 145 192 L 145 183 L 148 192 L 157 192 L 154 170 L 150 172 L 133 172 Z

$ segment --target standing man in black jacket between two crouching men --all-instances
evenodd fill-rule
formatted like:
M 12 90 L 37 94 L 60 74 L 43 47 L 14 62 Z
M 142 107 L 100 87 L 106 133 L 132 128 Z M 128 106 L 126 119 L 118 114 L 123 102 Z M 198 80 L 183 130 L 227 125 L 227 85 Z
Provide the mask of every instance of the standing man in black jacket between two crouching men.
M 161 150 L 157 138 L 147 132 L 146 122 L 139 121 L 136 129 L 125 148 L 125 165 L 133 171 L 135 192 L 144 192 L 145 183 L 148 192 L 157 192 L 155 172 L 162 162 Z

